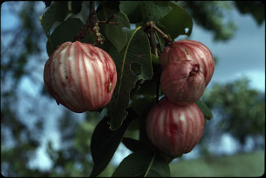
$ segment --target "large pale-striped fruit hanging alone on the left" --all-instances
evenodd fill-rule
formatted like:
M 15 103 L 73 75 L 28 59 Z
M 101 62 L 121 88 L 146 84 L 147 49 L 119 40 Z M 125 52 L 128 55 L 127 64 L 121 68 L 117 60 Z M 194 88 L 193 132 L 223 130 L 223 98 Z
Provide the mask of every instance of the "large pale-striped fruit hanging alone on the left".
M 44 84 L 57 104 L 72 112 L 105 107 L 116 87 L 112 57 L 91 44 L 65 42 L 44 66 Z

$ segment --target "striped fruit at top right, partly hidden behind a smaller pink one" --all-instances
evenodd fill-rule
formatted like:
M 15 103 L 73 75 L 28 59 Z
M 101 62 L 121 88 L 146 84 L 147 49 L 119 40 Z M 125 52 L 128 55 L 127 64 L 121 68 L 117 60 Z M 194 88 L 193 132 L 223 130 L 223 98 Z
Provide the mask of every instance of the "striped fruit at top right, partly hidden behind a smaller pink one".
M 206 86 L 213 76 L 215 67 L 213 55 L 209 48 L 195 40 L 184 39 L 174 42 L 172 45 L 163 49 L 160 60 L 163 69 L 177 60 L 192 60 L 199 64 L 204 74 Z

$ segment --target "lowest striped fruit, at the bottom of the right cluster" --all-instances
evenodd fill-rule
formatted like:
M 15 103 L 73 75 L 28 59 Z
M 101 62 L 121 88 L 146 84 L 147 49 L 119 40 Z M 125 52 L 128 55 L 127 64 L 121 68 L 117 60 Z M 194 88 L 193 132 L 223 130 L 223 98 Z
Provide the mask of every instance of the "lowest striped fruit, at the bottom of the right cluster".
M 193 150 L 203 130 L 204 115 L 195 103 L 175 105 L 166 97 L 152 107 L 146 120 L 150 141 L 172 157 Z

